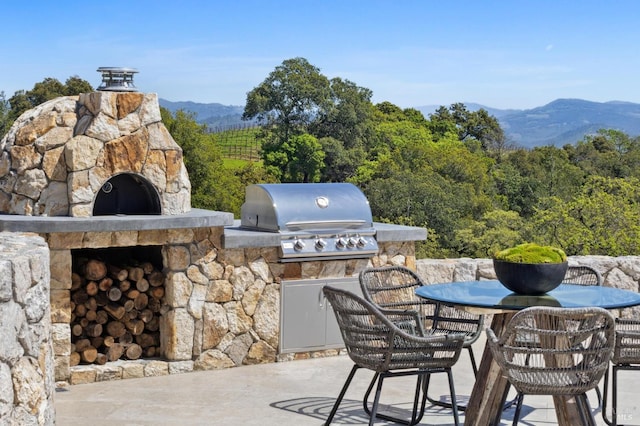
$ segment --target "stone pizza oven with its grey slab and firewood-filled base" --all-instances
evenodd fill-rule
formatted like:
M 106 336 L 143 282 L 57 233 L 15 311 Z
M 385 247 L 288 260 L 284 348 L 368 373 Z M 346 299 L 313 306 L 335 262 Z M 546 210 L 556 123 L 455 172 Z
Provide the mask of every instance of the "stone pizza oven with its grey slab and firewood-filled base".
M 233 215 L 191 208 L 157 95 L 131 87 L 45 102 L 0 141 L 0 229 L 37 233 L 50 250 L 59 381 L 91 381 L 91 366 L 120 359 L 193 363 L 212 341 L 201 290 L 223 278 Z

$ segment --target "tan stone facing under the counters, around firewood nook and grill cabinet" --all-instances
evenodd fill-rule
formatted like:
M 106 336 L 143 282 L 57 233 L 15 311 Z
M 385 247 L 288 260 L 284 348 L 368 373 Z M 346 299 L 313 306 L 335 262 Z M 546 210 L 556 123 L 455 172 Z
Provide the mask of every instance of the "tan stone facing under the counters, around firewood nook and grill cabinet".
M 223 228 L 44 235 L 51 250 L 55 377 L 59 386 L 326 356 L 277 353 L 280 282 L 357 277 L 367 266 L 415 269 L 413 242 L 381 243 L 372 259 L 279 263 L 276 247 L 221 249 Z M 161 245 L 167 272 L 162 359 L 69 366 L 71 249 Z

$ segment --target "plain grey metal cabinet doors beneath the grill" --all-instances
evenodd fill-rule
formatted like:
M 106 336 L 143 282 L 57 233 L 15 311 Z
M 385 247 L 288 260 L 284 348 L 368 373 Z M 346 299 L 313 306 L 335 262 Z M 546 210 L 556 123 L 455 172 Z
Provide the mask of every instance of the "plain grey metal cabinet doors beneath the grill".
M 357 277 L 283 281 L 280 353 L 344 347 L 331 305 L 322 293 L 325 285 L 362 295 Z

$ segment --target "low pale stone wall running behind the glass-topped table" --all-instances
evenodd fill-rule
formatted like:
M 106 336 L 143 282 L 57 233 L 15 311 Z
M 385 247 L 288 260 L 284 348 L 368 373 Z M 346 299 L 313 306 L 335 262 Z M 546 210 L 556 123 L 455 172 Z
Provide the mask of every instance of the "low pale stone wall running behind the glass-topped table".
M 570 256 L 569 265 L 595 268 L 604 286 L 640 291 L 640 256 Z M 416 272 L 427 284 L 496 279 L 491 259 L 420 259 Z M 620 309 L 614 315 L 640 317 L 640 307 Z

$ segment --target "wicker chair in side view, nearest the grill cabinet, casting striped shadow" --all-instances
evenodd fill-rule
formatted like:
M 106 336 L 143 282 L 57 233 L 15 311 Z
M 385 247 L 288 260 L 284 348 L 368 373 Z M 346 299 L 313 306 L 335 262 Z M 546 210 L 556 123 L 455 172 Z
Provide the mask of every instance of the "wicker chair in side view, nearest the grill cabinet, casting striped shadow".
M 375 305 L 354 293 L 330 286 L 323 287 L 323 293 L 335 313 L 347 354 L 354 363 L 325 425 L 329 425 L 333 420 L 353 376 L 360 368 L 375 372 L 374 380 L 363 398 L 364 410 L 369 415 L 369 425 L 372 425 L 376 418 L 407 425 L 419 423 L 426 405 L 423 381 L 428 374 L 446 373 L 451 398 L 455 398 L 451 367 L 458 361 L 462 351 L 462 335 L 425 336 L 420 332 L 419 318 L 415 312 L 382 313 Z M 413 324 L 408 328 L 400 328 L 397 325 L 399 322 Z M 407 330 L 416 330 L 418 333 L 412 334 Z M 378 413 L 384 380 L 408 375 L 417 376 L 411 419 Z M 373 404 L 369 408 L 369 395 L 376 383 Z M 457 425 L 459 418 L 455 405 L 452 411 Z

